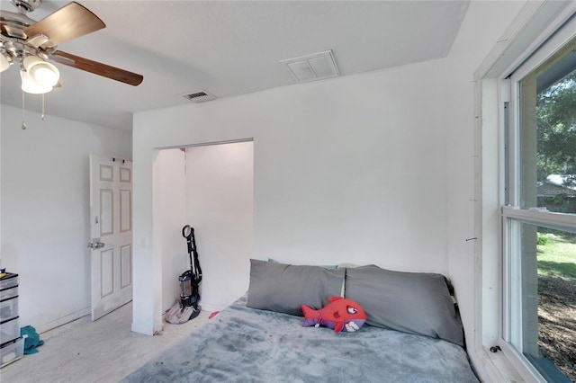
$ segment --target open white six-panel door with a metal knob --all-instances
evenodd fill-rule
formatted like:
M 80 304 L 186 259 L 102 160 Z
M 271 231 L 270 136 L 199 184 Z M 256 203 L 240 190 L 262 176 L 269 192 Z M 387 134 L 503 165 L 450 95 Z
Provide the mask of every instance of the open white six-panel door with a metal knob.
M 132 163 L 90 156 L 92 320 L 132 299 Z

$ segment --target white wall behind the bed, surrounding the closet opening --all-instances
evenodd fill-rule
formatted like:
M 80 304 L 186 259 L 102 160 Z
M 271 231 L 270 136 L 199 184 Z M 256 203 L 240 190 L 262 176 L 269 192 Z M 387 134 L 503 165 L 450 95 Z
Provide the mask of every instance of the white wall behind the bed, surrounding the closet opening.
M 148 239 L 155 147 L 254 138 L 254 254 L 246 263 L 275 257 L 447 273 L 440 73 L 442 60 L 137 113 L 132 328 L 161 328 L 161 304 L 150 298 L 161 289 L 152 273 L 161 255 Z

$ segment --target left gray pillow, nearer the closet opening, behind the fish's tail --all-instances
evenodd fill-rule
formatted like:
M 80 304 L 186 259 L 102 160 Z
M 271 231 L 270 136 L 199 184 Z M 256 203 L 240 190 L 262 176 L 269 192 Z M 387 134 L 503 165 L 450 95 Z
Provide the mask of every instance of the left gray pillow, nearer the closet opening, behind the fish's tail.
M 247 307 L 302 316 L 300 305 L 314 309 L 339 296 L 346 270 L 250 260 Z

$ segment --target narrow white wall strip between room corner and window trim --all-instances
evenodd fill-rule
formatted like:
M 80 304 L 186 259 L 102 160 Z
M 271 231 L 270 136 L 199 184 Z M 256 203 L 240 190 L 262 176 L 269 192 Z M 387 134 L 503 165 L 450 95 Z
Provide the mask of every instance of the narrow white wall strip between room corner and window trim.
M 481 196 L 476 193 L 476 183 L 480 183 L 481 177 L 476 170 L 480 168 L 475 168 L 480 153 L 474 142 L 480 111 L 474 111 L 473 74 L 525 4 L 473 1 L 446 59 L 446 86 L 450 89 L 446 97 L 446 134 L 450 137 L 446 171 L 451 180 L 447 191 L 449 274 L 469 343 L 473 342 L 474 321 L 478 316 L 474 308 L 473 286 L 478 281 L 474 264 L 481 263 L 474 259 L 477 239 L 473 239 L 479 236 L 478 228 L 474 227 L 474 212 L 481 203 Z M 494 304 L 499 305 L 498 296 L 494 299 Z

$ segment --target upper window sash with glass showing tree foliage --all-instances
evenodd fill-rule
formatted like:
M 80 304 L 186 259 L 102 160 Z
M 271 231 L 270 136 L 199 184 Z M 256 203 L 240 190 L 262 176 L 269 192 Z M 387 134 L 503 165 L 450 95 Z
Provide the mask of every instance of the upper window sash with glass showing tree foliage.
M 576 213 L 576 40 L 519 83 L 519 204 Z

